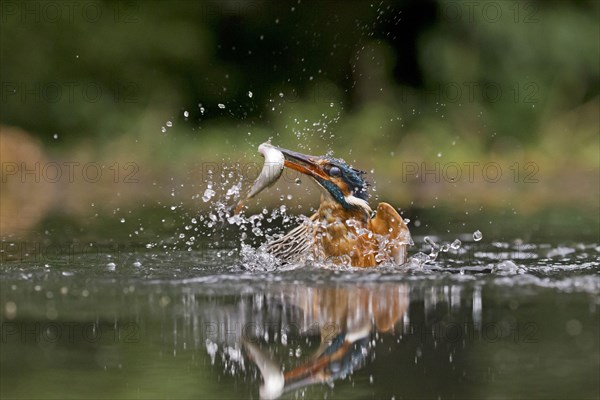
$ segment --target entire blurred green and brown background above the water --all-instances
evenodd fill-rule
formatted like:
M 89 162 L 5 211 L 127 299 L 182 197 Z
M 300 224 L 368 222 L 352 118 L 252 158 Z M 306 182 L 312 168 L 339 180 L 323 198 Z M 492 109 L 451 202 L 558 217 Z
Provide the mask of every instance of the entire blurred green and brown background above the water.
M 372 172 L 374 201 L 403 209 L 598 220 L 597 1 L 6 0 L 1 12 L 3 235 L 55 213 L 208 209 L 206 166 L 260 163 L 268 138 L 333 151 Z M 288 191 L 315 205 L 288 186 L 251 206 Z

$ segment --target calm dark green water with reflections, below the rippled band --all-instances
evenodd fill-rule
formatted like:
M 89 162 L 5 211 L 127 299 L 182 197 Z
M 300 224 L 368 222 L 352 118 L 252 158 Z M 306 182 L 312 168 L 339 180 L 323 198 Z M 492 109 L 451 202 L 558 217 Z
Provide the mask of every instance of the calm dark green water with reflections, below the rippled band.
M 313 282 L 293 271 L 281 281 L 137 287 L 66 285 L 60 273 L 43 284 L 0 282 L 3 390 L 60 397 L 69 385 L 86 397 L 101 382 L 107 398 L 597 393 L 597 290 L 508 286 L 489 274 L 335 282 L 334 272 L 309 272 Z M 57 370 L 69 373 L 57 381 Z

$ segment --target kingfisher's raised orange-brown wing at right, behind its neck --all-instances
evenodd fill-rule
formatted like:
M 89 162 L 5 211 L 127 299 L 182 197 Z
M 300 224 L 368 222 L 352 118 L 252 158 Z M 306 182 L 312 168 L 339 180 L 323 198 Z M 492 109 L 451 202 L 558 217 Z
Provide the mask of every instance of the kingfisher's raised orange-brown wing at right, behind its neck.
M 407 247 L 413 244 L 410 231 L 398 211 L 388 203 L 379 203 L 375 217 L 369 221 L 373 233 L 387 236 L 388 254 L 397 264 L 404 264 L 408 258 Z

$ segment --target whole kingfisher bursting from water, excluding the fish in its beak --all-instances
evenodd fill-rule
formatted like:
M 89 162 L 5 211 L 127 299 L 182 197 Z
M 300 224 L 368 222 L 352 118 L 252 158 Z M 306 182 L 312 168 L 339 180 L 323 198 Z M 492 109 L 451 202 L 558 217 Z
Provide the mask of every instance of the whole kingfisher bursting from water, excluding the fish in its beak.
M 390 204 L 370 207 L 366 172 L 332 156 L 273 148 L 283 154 L 283 166 L 312 178 L 322 194 L 317 212 L 268 242 L 267 252 L 284 263 L 307 257 L 352 267 L 406 262 L 413 244 L 408 227 Z

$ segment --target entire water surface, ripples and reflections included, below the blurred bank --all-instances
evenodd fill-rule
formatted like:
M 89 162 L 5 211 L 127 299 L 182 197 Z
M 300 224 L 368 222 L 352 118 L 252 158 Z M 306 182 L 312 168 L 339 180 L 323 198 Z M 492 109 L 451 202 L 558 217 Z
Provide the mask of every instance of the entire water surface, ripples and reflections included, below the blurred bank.
M 488 237 L 417 230 L 415 259 L 462 243 L 372 270 L 274 268 L 206 237 L 6 239 L 1 394 L 597 398 L 597 238 Z

